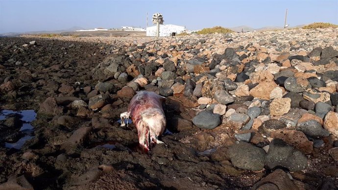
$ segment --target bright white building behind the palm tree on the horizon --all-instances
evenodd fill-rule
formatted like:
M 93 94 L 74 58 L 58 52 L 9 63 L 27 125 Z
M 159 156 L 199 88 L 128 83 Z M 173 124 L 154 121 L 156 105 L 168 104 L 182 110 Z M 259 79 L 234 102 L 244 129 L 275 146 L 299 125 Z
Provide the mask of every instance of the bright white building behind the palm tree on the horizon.
M 185 26 L 178 26 L 174 24 L 160 24 L 160 36 L 174 36 L 186 31 Z M 156 36 L 157 26 L 150 26 L 146 28 L 146 36 Z

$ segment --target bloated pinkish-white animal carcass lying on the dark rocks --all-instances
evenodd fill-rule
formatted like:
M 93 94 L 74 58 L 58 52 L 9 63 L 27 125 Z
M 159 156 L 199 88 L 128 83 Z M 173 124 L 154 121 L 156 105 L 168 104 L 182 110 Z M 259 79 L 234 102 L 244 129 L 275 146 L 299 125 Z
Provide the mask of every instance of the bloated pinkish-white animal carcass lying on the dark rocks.
M 121 114 L 131 117 L 133 120 L 138 136 L 139 143 L 149 150 L 151 143 L 163 143 L 158 137 L 166 129 L 166 117 L 162 108 L 162 102 L 166 98 L 153 92 L 141 91 L 131 99 L 128 112 Z

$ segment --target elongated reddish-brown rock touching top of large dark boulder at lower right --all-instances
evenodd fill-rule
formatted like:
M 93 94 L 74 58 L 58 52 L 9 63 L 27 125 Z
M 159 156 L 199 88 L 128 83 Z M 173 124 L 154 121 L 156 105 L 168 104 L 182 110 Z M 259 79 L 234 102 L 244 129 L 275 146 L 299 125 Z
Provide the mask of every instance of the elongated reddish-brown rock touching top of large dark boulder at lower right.
M 310 154 L 314 149 L 314 143 L 309 141 L 302 131 L 282 129 L 272 131 L 270 136 L 271 138 L 281 139 L 284 142 L 291 144 L 305 154 Z

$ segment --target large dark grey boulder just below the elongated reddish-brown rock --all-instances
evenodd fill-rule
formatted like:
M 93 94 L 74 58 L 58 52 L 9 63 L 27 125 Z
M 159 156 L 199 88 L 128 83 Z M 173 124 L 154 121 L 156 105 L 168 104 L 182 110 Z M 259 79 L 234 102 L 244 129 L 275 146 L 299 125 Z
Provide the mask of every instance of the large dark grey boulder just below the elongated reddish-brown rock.
M 308 159 L 283 140 L 273 139 L 269 145 L 265 163 L 270 169 L 283 166 L 290 171 L 301 171 L 307 167 Z

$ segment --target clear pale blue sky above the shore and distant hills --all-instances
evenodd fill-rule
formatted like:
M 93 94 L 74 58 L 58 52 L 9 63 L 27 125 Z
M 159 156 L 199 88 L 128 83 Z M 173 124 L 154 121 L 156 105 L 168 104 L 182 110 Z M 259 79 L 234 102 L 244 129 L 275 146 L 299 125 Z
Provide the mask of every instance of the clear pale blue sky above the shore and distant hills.
M 329 22 L 338 24 L 338 0 L 0 0 L 0 33 L 164 24 L 201 29 L 221 25 L 254 28 Z

